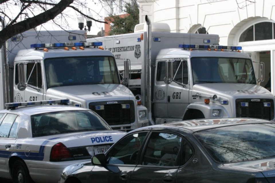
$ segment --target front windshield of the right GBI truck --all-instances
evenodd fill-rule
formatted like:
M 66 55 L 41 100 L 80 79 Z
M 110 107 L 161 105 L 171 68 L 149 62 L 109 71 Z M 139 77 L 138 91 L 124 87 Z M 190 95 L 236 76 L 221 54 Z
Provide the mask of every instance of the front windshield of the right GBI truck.
M 252 61 L 243 58 L 191 58 L 193 83 L 256 84 Z

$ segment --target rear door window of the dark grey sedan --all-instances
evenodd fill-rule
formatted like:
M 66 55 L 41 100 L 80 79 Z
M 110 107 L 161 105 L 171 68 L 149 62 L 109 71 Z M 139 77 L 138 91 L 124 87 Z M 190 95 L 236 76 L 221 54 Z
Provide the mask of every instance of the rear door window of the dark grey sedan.
M 182 137 L 176 134 L 153 132 L 146 146 L 142 164 L 150 166 L 178 166 L 178 152 Z

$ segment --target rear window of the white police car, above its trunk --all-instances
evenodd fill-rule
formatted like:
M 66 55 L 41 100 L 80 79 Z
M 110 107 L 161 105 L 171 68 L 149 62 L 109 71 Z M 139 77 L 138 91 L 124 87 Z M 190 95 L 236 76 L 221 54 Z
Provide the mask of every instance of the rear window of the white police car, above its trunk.
M 33 115 L 32 137 L 74 132 L 111 130 L 105 121 L 92 111 L 59 111 Z

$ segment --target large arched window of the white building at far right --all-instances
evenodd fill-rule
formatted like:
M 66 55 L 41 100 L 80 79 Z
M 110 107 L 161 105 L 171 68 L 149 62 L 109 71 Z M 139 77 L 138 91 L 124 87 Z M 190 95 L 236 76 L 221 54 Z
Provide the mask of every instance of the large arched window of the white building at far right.
M 275 39 L 275 23 L 260 22 L 243 31 L 239 42 Z

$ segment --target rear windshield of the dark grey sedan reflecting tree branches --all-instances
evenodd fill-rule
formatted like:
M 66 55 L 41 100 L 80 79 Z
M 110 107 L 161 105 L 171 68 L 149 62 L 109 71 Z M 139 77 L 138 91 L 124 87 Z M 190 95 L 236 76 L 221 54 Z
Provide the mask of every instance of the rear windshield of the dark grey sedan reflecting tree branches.
M 196 132 L 195 136 L 220 163 L 275 157 L 275 124 L 244 124 Z

